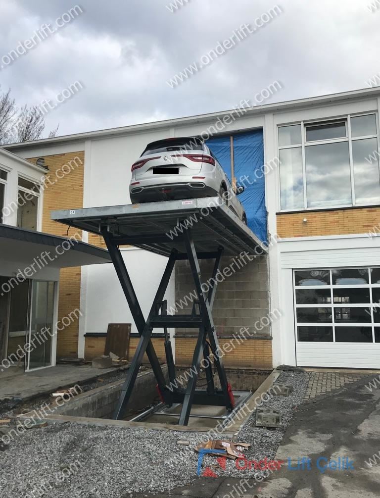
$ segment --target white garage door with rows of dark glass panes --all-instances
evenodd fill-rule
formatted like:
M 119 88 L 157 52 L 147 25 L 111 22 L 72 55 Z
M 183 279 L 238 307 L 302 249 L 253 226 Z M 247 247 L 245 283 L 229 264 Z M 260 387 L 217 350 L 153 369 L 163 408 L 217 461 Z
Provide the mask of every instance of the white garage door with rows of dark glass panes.
M 380 268 L 293 271 L 297 365 L 380 368 Z

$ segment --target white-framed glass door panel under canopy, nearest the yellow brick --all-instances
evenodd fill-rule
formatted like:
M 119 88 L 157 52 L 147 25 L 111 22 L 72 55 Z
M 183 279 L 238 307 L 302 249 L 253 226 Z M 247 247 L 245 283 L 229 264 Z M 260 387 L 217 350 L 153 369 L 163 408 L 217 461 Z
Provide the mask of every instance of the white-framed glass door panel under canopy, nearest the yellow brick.
M 54 282 L 32 280 L 28 370 L 51 365 Z

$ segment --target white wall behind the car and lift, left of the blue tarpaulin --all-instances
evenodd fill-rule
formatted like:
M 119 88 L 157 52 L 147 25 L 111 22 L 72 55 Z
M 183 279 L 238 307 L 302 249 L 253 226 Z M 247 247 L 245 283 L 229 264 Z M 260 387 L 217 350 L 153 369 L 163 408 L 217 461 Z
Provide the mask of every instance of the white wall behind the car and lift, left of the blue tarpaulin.
M 131 165 L 141 155 L 145 146 L 154 140 L 168 136 L 188 136 L 200 134 L 214 120 L 199 125 L 186 125 L 180 128 L 160 128 L 153 131 L 92 139 L 85 142 L 85 173 L 83 207 L 115 206 L 130 204 L 129 181 Z M 263 125 L 263 117 L 236 121 L 229 131 L 244 127 Z M 87 241 L 87 236 L 84 236 Z M 150 310 L 154 294 L 166 265 L 167 258 L 141 249 L 123 250 L 127 270 L 135 285 L 137 297 L 145 318 Z M 174 272 L 168 286 L 168 304 L 175 301 Z M 84 334 L 86 332 L 107 332 L 108 323 L 132 323 L 132 332 L 137 332 L 126 298 L 117 279 L 113 265 L 82 267 L 81 310 L 83 317 L 79 323 L 78 354 L 84 356 Z M 159 329 L 155 329 L 160 332 Z M 174 335 L 174 329 L 170 330 Z M 175 344 L 172 340 L 173 354 Z

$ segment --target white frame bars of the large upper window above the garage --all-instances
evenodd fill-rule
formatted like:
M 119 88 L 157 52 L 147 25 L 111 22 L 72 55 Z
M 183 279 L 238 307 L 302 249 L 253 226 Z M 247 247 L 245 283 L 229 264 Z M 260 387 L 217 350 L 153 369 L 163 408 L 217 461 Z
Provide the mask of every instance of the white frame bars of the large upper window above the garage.
M 370 115 L 375 115 L 375 124 L 376 124 L 376 134 L 372 135 L 363 135 L 359 137 L 353 137 L 352 132 L 351 132 L 351 119 L 352 118 L 359 118 L 361 116 L 370 116 Z M 346 137 L 341 137 L 341 138 L 329 138 L 326 140 L 312 140 L 312 141 L 306 141 L 306 127 L 310 125 L 321 125 L 321 124 L 334 124 L 334 123 L 346 123 Z M 284 126 L 292 126 L 300 124 L 301 125 L 301 142 L 297 144 L 292 144 L 292 145 L 280 145 L 279 144 L 279 128 L 284 127 Z M 278 124 L 276 127 L 277 131 L 277 151 L 278 151 L 278 157 L 280 155 L 280 150 L 282 149 L 291 149 L 291 148 L 296 148 L 296 147 L 301 147 L 302 151 L 302 175 L 303 175 L 303 207 L 300 208 L 291 208 L 291 209 L 282 209 L 281 208 L 281 180 L 280 180 L 280 169 L 281 169 L 281 164 L 278 168 L 278 175 L 277 175 L 277 181 L 278 181 L 278 212 L 281 213 L 293 213 L 293 212 L 298 212 L 298 211 L 320 211 L 324 209 L 344 209 L 344 208 L 352 208 L 352 207 L 366 207 L 366 206 L 377 206 L 380 204 L 380 202 L 376 203 L 357 203 L 355 200 L 355 177 L 354 177 L 354 157 L 353 157 L 353 148 L 352 144 L 356 140 L 366 140 L 369 138 L 376 138 L 377 143 L 378 143 L 378 151 L 380 149 L 380 132 L 379 132 L 379 116 L 376 111 L 367 111 L 363 113 L 354 113 L 354 114 L 347 114 L 341 117 L 335 117 L 331 119 L 320 119 L 320 120 L 302 120 L 299 122 L 291 122 L 291 123 L 283 123 L 283 124 Z M 326 207 L 319 206 L 319 207 L 307 207 L 307 185 L 306 185 L 306 154 L 305 150 L 306 147 L 310 147 L 313 145 L 327 145 L 330 143 L 338 143 L 338 142 L 348 142 L 349 146 L 349 163 L 350 163 L 350 182 L 351 182 L 351 204 L 339 204 L 339 205 L 329 205 Z M 378 156 L 378 169 L 379 169 L 379 178 L 380 178 L 380 154 Z

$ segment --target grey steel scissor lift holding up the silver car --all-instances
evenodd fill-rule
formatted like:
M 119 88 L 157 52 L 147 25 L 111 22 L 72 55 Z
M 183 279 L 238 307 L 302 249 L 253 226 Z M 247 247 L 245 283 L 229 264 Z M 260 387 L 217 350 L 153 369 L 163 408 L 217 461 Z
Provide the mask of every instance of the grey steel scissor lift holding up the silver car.
M 219 197 L 53 211 L 51 219 L 69 227 L 103 236 L 140 336 L 114 418 L 121 419 L 124 416 L 144 353 L 157 379 L 162 402 L 167 406 L 172 406 L 173 403 L 182 404 L 179 425 L 188 424 L 193 403 L 225 406 L 227 411 L 232 411 L 234 396 L 227 381 L 223 359 L 218 355 L 218 338 L 212 318 L 217 289 L 215 277 L 220 268 L 222 255 L 237 256 L 243 252 L 256 256 L 266 253 L 264 245 L 253 232 Z M 120 251 L 120 246 L 124 245 L 168 257 L 146 320 Z M 175 262 L 181 259 L 189 261 L 198 300 L 193 303 L 191 314 L 168 315 L 164 294 Z M 215 261 L 212 279 L 209 280 L 214 282 L 214 285 L 210 286 L 207 294 L 202 289 L 199 259 Z M 192 361 L 193 373 L 189 376 L 185 389 L 181 386 L 176 387 L 168 327 L 199 329 Z M 152 345 L 154 328 L 163 328 L 165 333 L 170 388 Z M 202 359 L 212 359 L 212 362 L 205 361 L 206 390 L 196 389 Z M 219 376 L 220 389 L 214 385 L 212 364 Z

